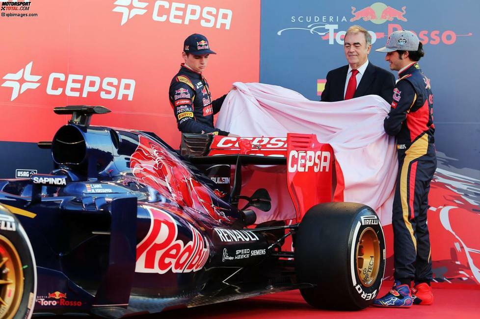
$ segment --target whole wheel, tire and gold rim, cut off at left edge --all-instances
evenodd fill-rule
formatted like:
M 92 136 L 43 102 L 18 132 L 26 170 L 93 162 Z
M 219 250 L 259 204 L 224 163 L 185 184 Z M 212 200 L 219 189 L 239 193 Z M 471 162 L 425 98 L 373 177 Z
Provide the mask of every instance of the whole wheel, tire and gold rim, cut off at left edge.
M 0 319 L 29 319 L 33 314 L 37 272 L 27 233 L 0 204 Z

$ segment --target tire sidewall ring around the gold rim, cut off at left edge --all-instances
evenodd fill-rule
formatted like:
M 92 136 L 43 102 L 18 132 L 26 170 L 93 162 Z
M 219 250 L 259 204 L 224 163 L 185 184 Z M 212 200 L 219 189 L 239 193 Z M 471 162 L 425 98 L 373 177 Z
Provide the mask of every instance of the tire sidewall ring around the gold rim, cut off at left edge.
M 14 319 L 29 319 L 33 314 L 33 308 L 35 305 L 36 288 L 37 288 L 37 273 L 35 258 L 33 256 L 33 250 L 28 240 L 27 233 L 22 227 L 17 218 L 3 209 L 0 209 L 0 216 L 11 216 L 15 222 L 15 231 L 12 230 L 0 230 L 0 234 L 6 237 L 15 247 L 19 254 L 24 274 L 24 288 L 22 293 L 22 299 L 17 313 L 13 317 Z M 1 317 L 1 315 L 0 315 Z

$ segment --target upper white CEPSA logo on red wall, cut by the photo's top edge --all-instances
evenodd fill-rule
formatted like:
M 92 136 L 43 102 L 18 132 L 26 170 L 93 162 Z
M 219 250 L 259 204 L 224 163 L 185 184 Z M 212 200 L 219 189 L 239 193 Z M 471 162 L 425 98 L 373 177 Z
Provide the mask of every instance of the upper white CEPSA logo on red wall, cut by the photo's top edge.
M 144 15 L 152 8 L 152 20 L 156 22 L 165 22 L 168 20 L 174 24 L 188 25 L 191 21 L 200 20 L 200 25 L 204 27 L 215 27 L 217 29 L 224 27 L 230 29 L 232 22 L 232 10 L 201 7 L 197 4 L 186 4 L 180 2 L 170 2 L 158 0 L 155 4 L 147 8 L 148 2 L 139 0 L 116 0 L 116 5 L 112 11 L 122 14 L 120 25 L 124 25 L 136 15 Z

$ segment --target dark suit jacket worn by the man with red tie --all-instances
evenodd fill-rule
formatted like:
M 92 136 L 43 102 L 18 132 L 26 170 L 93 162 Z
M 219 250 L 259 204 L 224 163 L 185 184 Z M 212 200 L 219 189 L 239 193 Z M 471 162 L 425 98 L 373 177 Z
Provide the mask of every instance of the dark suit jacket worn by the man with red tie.
M 332 70 L 327 74 L 325 89 L 321 93 L 322 102 L 336 102 L 344 100 L 345 81 L 347 80 L 348 65 Z M 358 84 L 353 98 L 376 94 L 392 103 L 395 76 L 389 71 L 379 68 L 369 61 L 367 69 Z

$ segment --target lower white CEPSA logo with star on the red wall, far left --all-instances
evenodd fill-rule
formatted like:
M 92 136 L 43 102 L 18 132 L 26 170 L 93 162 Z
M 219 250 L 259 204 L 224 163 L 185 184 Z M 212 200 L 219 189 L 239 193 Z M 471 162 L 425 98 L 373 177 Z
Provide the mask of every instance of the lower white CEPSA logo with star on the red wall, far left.
M 41 75 L 33 75 L 33 61 L 16 73 L 7 73 L 1 86 L 12 88 L 10 101 L 16 99 L 28 89 L 36 89 L 42 83 Z M 100 92 L 100 98 L 133 99 L 135 80 L 127 78 L 104 77 L 83 74 L 64 74 L 53 72 L 47 80 L 46 93 L 48 95 L 66 95 L 69 97 L 86 98 Z M 98 95 L 98 93 L 97 93 Z

